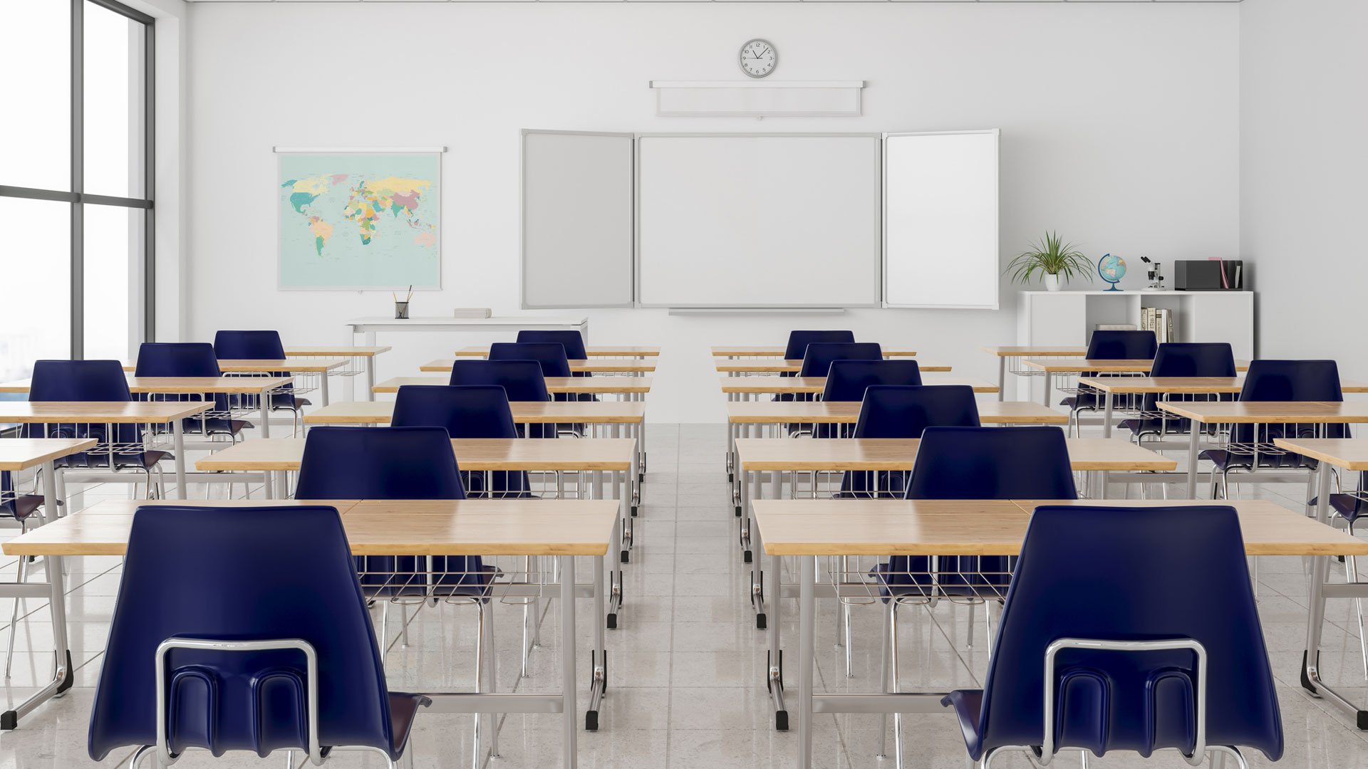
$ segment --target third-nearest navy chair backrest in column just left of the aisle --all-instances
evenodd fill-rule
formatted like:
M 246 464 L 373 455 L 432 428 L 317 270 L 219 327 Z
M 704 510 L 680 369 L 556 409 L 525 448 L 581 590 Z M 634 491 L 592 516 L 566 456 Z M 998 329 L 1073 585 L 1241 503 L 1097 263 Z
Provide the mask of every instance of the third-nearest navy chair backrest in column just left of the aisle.
M 503 387 L 405 384 L 390 427 L 442 427 L 451 438 L 517 438 Z

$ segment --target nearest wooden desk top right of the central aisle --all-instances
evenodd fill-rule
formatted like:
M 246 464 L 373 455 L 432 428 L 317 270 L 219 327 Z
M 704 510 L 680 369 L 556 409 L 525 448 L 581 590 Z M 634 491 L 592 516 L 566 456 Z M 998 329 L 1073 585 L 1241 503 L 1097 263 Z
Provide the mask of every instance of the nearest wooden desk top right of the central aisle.
M 755 499 L 770 556 L 1016 556 L 1037 505 L 1174 506 L 1209 501 Z M 1263 499 L 1228 504 L 1250 556 L 1368 554 L 1368 540 Z M 41 531 L 41 530 L 40 530 Z

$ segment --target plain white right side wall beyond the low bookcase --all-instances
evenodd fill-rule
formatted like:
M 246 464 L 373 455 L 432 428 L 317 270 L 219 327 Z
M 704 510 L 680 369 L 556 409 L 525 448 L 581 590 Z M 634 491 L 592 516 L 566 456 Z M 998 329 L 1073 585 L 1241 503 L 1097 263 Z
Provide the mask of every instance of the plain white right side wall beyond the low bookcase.
M 1361 0 L 1241 3 L 1241 244 L 1264 289 L 1260 354 L 1338 359 L 1343 379 L 1368 376 L 1364 30 Z

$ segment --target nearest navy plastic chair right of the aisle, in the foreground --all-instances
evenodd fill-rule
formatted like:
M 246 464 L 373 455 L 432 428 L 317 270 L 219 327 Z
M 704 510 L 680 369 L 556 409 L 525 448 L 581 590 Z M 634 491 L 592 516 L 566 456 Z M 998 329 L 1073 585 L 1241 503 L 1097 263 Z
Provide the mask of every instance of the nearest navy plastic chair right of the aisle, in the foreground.
M 1235 510 L 1037 508 L 984 688 L 943 703 L 985 768 L 1022 746 L 1047 759 L 1062 748 L 1194 755 L 1198 722 L 1208 751 L 1278 761 L 1282 716 Z

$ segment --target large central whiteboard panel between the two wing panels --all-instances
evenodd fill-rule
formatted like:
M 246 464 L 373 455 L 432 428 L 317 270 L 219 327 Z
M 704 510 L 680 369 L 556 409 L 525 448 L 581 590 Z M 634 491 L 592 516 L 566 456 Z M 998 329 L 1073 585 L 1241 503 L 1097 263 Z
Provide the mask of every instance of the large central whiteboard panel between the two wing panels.
M 636 140 L 642 307 L 877 307 L 880 137 Z

